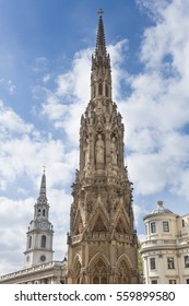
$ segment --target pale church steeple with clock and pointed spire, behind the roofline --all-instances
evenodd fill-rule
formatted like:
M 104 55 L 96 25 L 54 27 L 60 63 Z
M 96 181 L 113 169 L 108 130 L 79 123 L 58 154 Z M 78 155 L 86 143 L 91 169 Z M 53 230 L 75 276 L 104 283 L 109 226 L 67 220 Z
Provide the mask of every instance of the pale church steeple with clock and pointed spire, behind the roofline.
M 46 175 L 44 170 L 39 197 L 34 205 L 34 220 L 31 221 L 27 231 L 24 268 L 52 260 L 54 226 L 48 220 L 48 213 L 49 204 L 46 196 Z

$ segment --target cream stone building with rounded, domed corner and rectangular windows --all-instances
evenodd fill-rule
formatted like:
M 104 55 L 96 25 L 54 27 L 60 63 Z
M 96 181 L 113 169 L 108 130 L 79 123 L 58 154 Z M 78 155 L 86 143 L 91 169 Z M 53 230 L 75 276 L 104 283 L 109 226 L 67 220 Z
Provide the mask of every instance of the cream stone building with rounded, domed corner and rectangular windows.
M 158 201 L 144 217 L 144 283 L 189 284 L 189 214 L 175 214 Z

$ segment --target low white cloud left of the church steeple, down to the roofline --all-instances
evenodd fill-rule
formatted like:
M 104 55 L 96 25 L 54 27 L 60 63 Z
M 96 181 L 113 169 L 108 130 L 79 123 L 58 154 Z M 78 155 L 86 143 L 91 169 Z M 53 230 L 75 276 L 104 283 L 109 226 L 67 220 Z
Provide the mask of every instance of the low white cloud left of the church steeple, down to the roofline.
M 25 249 L 26 228 L 31 221 L 34 199 L 10 200 L 0 198 L 0 271 L 1 274 L 17 270 L 23 266 L 22 252 Z

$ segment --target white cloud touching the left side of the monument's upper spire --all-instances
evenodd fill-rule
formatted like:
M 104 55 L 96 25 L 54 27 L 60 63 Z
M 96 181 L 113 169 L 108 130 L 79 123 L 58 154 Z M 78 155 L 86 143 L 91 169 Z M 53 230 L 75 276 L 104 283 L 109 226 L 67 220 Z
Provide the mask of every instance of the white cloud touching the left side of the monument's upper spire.
M 56 80 L 54 92 L 47 91 L 43 114 L 62 129 L 70 143 L 78 148 L 80 117 L 90 99 L 91 49 L 75 54 L 72 68 Z

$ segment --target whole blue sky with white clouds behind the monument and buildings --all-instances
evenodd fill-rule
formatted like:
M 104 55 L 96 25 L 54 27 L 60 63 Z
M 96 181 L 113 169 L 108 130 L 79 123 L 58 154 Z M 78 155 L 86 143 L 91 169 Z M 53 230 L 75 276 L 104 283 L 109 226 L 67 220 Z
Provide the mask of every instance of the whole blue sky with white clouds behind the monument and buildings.
M 189 212 L 188 1 L 0 0 L 0 274 L 23 264 L 43 165 L 55 259 L 67 251 L 99 8 L 138 234 L 157 200 Z

